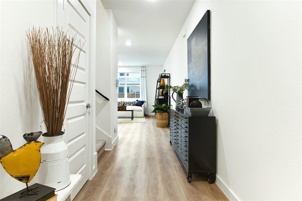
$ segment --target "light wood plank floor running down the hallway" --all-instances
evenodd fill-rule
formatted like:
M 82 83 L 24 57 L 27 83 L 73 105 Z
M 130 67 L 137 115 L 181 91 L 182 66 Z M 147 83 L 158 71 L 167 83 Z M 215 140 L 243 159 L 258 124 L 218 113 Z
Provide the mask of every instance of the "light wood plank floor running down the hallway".
M 119 123 L 119 141 L 98 159 L 98 172 L 75 200 L 228 200 L 206 175 L 192 174 L 187 182 L 172 145 L 169 127 Z

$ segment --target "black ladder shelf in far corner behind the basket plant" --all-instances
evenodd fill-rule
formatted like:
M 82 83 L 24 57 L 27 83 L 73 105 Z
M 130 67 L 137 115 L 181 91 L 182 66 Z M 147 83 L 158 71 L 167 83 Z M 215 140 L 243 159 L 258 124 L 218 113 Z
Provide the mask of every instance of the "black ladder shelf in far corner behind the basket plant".
M 170 73 L 159 74 L 159 78 L 157 79 L 157 83 L 156 83 L 156 93 L 155 93 L 155 101 L 154 101 L 155 105 L 171 104 L 170 91 L 168 91 L 167 94 L 165 95 L 163 94 L 161 96 L 159 95 L 159 92 L 165 89 L 165 86 L 160 86 L 160 82 L 162 79 L 164 79 L 165 84 L 170 85 Z

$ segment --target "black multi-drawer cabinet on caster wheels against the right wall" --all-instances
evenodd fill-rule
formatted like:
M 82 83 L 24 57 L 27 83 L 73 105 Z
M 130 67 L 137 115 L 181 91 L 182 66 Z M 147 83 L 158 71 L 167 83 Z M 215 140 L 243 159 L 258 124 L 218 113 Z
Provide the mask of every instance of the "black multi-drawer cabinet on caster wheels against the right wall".
M 216 180 L 216 118 L 191 116 L 183 110 L 170 110 L 170 144 L 187 171 L 208 173 L 208 182 Z

